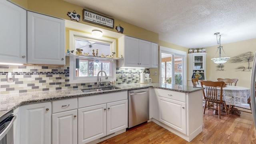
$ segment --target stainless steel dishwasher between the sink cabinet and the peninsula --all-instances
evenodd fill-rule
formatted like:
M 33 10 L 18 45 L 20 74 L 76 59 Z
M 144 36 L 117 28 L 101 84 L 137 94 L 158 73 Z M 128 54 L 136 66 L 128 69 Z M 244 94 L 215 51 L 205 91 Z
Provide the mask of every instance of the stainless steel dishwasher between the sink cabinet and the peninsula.
M 149 120 L 149 89 L 128 91 L 128 128 Z

